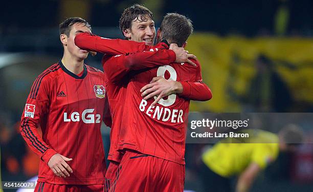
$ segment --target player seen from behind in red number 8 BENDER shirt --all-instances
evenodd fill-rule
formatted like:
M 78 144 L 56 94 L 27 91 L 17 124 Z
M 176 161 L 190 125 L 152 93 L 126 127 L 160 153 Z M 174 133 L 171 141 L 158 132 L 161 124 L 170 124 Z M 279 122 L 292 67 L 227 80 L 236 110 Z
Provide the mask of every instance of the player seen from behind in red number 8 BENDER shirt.
M 185 16 L 167 14 L 157 35 L 158 42 L 176 43 L 183 47 L 192 30 L 191 21 Z M 158 45 L 154 47 L 154 51 L 161 48 Z M 126 55 L 117 56 L 115 59 L 123 56 Z M 146 84 L 155 76 L 161 76 L 169 82 L 203 84 L 200 64 L 196 60 L 193 62 L 196 67 L 186 63 L 170 63 L 131 73 L 118 146 L 125 154 L 111 186 L 112 191 L 183 191 L 190 99 L 167 92 L 170 94 L 167 98 L 161 98 L 156 105 L 151 105 L 157 96 L 154 96 L 154 99 L 151 97 L 159 88 L 153 86 L 153 83 L 148 86 Z M 197 89 L 183 91 L 189 94 L 203 94 Z M 203 100 L 211 98 L 211 94 L 205 95 Z

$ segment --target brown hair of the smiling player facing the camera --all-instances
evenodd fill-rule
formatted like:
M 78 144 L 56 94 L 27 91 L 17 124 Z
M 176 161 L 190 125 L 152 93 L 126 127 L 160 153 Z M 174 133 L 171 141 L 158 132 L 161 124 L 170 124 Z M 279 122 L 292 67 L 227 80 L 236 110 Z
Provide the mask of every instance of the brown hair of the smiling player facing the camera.
M 123 35 L 125 29 L 131 29 L 131 24 L 134 19 L 139 20 L 139 22 L 146 22 L 148 19 L 153 19 L 153 14 L 148 8 L 139 4 L 134 4 L 125 9 L 120 18 L 120 29 Z M 125 39 L 127 39 L 127 37 L 125 37 Z

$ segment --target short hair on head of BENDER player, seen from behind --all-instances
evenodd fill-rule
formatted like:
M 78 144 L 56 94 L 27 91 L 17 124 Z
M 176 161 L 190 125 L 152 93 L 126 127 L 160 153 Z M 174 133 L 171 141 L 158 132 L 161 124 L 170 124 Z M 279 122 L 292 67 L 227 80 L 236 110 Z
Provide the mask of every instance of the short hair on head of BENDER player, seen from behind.
M 189 35 L 193 32 L 189 18 L 178 13 L 167 13 L 160 26 L 162 39 L 182 47 Z

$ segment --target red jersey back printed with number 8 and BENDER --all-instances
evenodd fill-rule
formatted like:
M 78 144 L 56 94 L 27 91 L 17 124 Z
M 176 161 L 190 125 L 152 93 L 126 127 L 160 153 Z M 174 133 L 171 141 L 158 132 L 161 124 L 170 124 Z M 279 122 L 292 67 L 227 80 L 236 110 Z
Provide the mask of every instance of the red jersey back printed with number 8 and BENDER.
M 195 60 L 193 62 L 197 67 L 188 63 L 171 63 L 132 74 L 127 87 L 119 150 L 136 150 L 143 154 L 185 164 L 190 100 L 173 94 L 161 99 L 151 108 L 153 99 L 144 100 L 140 89 L 155 76 L 176 81 L 202 82 L 200 65 Z

